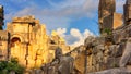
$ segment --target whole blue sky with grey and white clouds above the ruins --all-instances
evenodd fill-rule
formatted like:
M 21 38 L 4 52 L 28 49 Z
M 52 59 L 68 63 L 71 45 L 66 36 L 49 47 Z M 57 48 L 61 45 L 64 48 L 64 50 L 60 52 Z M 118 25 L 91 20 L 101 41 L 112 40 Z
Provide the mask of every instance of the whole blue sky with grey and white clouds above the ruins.
M 117 12 L 122 13 L 123 3 L 124 0 L 117 0 Z M 4 7 L 5 24 L 14 16 L 35 15 L 46 24 L 48 34 L 57 30 L 68 44 L 99 35 L 98 0 L 0 0 L 0 4 Z

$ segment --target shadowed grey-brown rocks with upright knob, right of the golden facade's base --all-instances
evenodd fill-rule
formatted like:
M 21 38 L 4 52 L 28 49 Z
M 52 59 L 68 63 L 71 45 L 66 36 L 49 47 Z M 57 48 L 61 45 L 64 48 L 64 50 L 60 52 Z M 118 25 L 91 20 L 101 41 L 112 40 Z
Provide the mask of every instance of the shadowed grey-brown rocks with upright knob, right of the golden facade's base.
M 56 49 L 56 58 L 51 63 L 41 66 L 45 74 L 72 74 L 73 73 L 73 58 L 63 57 L 60 48 Z

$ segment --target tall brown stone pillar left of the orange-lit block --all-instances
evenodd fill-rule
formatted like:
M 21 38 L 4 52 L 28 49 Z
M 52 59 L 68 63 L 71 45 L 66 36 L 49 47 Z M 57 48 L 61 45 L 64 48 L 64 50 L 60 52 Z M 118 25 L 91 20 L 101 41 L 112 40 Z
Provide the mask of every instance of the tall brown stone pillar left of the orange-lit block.
M 99 21 L 99 29 L 100 33 L 104 33 L 104 29 L 108 23 L 112 22 L 112 13 L 116 11 L 116 2 L 115 0 L 99 0 L 99 5 L 98 5 L 98 21 Z M 110 18 L 106 20 L 108 22 L 107 24 L 104 25 L 104 18 L 108 15 L 111 15 Z M 107 25 L 107 26 L 112 26 L 112 24 Z M 109 27 L 108 27 L 109 28 Z

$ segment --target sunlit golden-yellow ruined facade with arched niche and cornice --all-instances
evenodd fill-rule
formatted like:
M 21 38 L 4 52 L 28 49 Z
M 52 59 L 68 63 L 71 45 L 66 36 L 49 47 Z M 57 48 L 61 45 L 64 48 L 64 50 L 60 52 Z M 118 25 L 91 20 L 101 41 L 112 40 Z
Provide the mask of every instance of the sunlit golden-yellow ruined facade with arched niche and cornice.
M 7 24 L 7 29 L 0 32 L 0 36 L 5 38 L 2 39 L 5 41 L 2 41 L 3 46 L 0 46 L 4 50 L 3 55 L 16 58 L 20 64 L 28 69 L 51 62 L 58 47 L 63 51 L 70 50 L 63 38 L 57 33 L 49 37 L 45 25 L 33 16 L 14 17 Z

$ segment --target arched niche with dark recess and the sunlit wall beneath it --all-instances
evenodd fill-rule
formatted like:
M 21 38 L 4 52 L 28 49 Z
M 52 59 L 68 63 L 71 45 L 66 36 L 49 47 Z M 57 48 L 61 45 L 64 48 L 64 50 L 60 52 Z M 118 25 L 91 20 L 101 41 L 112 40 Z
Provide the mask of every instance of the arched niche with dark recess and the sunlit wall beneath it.
M 26 45 L 23 44 L 24 38 L 20 35 L 12 35 L 10 38 L 10 55 L 16 58 L 19 63 L 26 66 Z

